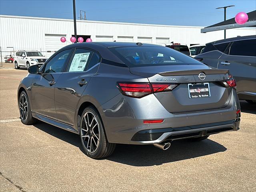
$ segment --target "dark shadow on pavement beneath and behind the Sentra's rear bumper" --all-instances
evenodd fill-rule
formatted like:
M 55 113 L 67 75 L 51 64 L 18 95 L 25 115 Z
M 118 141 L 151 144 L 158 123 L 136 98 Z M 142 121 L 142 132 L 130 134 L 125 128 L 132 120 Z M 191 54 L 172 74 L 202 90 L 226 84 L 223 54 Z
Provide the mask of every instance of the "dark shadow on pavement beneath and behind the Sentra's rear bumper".
M 108 160 L 131 166 L 154 166 L 176 162 L 218 152 L 227 148 L 210 139 L 200 142 L 188 140 L 173 141 L 168 150 L 161 150 L 153 145 L 117 145 Z

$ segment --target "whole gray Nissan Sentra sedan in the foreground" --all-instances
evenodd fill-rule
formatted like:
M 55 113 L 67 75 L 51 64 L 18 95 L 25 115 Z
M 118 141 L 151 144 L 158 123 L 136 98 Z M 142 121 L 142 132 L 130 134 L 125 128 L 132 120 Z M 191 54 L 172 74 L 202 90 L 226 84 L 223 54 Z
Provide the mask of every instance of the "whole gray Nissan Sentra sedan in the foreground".
M 41 120 L 80 134 L 91 158 L 111 155 L 118 143 L 166 150 L 172 140 L 239 129 L 229 71 L 167 47 L 72 44 L 28 71 L 18 87 L 22 123 Z

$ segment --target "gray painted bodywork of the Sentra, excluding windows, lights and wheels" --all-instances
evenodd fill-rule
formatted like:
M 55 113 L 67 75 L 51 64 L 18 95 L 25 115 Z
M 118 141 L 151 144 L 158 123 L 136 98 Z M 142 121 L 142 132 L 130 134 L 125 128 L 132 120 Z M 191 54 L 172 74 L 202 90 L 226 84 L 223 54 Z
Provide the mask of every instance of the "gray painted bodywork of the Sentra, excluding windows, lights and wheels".
M 186 126 L 227 122 L 237 118 L 236 110 L 240 109 L 240 105 L 236 90 L 221 87 L 216 82 L 226 80 L 228 70 L 217 70 L 200 62 L 198 65 L 129 68 L 108 49 L 110 46 L 136 44 L 109 42 L 69 45 L 58 52 L 67 48 L 86 48 L 97 51 L 102 57 L 101 62 L 85 72 L 70 73 L 63 69 L 60 73 L 28 74 L 20 82 L 18 96 L 22 90 L 26 91 L 32 116 L 78 134 L 79 112 L 88 105 L 94 105 L 100 113 L 108 142 L 123 144 L 160 143 L 172 134 L 168 132 L 161 139 L 148 142 L 132 141 L 134 134 L 142 130 L 180 128 L 179 131 L 182 131 L 182 127 Z M 44 66 L 40 68 L 41 71 Z M 175 75 L 168 76 L 174 72 Z M 203 81 L 198 78 L 200 72 L 206 74 Z M 161 78 L 180 85 L 172 92 L 149 94 L 142 98 L 124 96 L 116 86 L 116 82 L 156 82 Z M 171 80 L 174 78 L 175 81 Z M 50 86 L 49 82 L 53 79 L 55 84 Z M 78 82 L 81 80 L 87 83 L 80 86 Z M 210 82 L 212 96 L 191 100 L 186 87 L 191 82 Z M 143 124 L 143 120 L 152 119 L 164 119 L 164 122 Z M 234 123 L 232 130 L 238 130 Z M 184 131 L 194 130 L 184 128 Z

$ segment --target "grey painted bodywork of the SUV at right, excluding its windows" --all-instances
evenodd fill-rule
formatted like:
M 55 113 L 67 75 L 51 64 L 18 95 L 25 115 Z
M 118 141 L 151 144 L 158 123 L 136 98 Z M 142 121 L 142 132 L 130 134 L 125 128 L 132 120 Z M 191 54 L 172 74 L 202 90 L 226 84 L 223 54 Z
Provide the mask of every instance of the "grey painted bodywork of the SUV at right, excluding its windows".
M 244 36 L 236 38 L 228 38 L 211 42 L 210 44 L 221 44 L 240 40 L 256 39 L 256 36 Z M 232 45 L 231 45 L 232 46 Z M 230 45 L 227 49 L 230 48 Z M 242 49 L 242 47 L 241 47 Z M 254 56 L 240 56 L 229 55 L 219 51 L 213 50 L 204 52 L 195 57 L 209 66 L 218 69 L 228 69 L 235 78 L 237 83 L 237 94 L 239 99 L 256 100 L 256 57 Z

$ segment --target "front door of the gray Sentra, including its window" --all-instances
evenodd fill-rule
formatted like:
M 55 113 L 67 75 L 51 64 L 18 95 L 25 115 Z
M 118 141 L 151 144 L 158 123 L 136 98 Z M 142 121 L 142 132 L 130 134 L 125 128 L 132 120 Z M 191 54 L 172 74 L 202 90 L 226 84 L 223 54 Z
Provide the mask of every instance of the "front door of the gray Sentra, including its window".
M 54 88 L 68 62 L 72 49 L 66 49 L 52 57 L 32 84 L 32 112 L 56 119 Z

